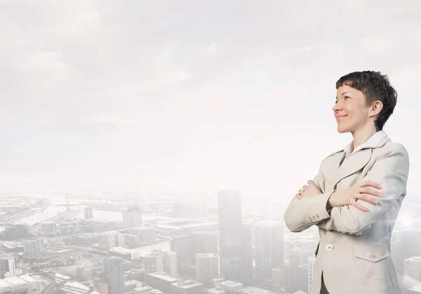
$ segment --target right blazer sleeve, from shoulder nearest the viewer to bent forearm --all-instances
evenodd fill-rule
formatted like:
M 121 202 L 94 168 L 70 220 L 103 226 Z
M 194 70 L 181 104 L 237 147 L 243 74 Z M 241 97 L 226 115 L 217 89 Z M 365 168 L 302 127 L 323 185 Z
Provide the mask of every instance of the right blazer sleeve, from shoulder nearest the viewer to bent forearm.
M 392 146 L 394 147 L 379 156 L 361 180 L 362 182 L 370 180 L 380 185 L 381 189 L 377 191 L 382 197 L 376 197 L 379 203 L 371 204 L 358 199 L 359 203 L 368 208 L 366 212 L 352 205 L 333 207 L 330 217 L 317 223 L 319 227 L 359 236 L 369 229 L 401 195 L 406 194 L 409 173 L 408 152 L 403 145 L 395 143 Z

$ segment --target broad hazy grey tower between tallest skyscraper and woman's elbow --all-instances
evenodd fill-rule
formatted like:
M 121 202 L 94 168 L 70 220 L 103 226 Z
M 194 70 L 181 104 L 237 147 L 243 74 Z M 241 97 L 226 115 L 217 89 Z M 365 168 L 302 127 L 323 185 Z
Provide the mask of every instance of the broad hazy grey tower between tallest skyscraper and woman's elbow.
M 255 281 L 262 288 L 272 285 L 272 269 L 283 264 L 283 226 L 263 220 L 253 226 L 255 239 Z

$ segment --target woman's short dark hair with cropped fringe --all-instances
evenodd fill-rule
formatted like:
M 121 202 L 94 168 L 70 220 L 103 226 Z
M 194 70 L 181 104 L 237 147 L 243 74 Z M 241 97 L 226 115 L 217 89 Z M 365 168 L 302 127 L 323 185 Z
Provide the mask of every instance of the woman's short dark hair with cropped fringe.
M 363 92 L 364 96 L 366 96 L 367 105 L 376 100 L 380 100 L 383 103 L 383 108 L 375 120 L 376 130 L 381 131 L 393 113 L 398 100 L 398 93 L 390 85 L 389 77 L 381 72 L 352 72 L 338 79 L 336 89 L 342 85 L 350 86 Z

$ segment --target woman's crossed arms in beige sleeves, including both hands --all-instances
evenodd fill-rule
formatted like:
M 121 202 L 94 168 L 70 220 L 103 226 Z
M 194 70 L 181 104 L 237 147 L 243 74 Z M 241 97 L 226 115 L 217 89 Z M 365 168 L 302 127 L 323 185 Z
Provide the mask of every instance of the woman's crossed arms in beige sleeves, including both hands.
M 381 194 L 381 196 L 375 197 L 377 203 L 369 200 L 368 197 L 370 196 L 364 192 L 361 193 L 361 197 L 354 197 L 354 194 L 349 194 L 352 191 L 355 192 L 354 186 L 352 186 L 354 190 L 349 187 L 342 191 L 321 193 L 319 187 L 323 175 L 319 171 L 319 174 L 314 178 L 314 183 L 309 182 L 309 186 L 315 185 L 319 193 L 314 193 L 315 188 L 310 187 L 313 189 L 313 194 L 310 194 L 310 196 L 295 196 L 284 214 L 286 226 L 291 232 L 302 232 L 312 225 L 317 225 L 328 231 L 359 236 L 366 229 L 369 229 L 402 194 L 406 193 L 408 171 L 408 153 L 403 145 L 394 144 L 392 148 L 388 148 L 384 154 L 379 156 L 367 175 L 361 182 L 356 183 L 359 187 L 368 182 L 380 185 L 380 189 L 376 189 Z M 333 201 L 334 197 L 335 201 Z M 352 198 L 356 203 L 348 202 L 351 204 L 344 205 L 346 197 Z M 366 199 L 366 201 L 363 199 Z M 357 208 L 361 204 L 367 208 L 367 211 Z M 331 208 L 330 213 L 328 212 L 329 208 Z

